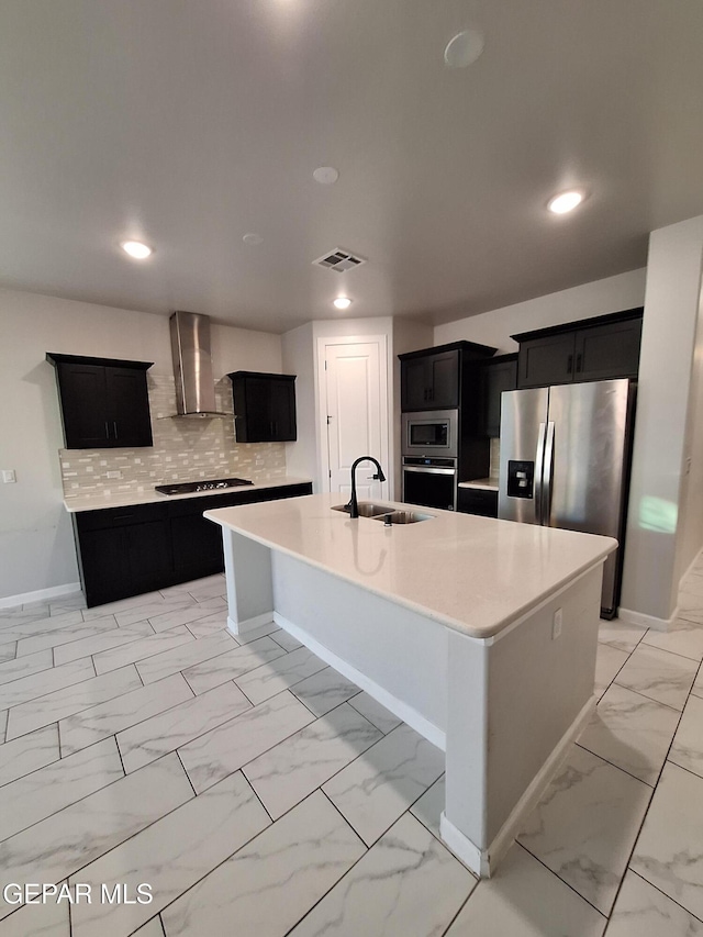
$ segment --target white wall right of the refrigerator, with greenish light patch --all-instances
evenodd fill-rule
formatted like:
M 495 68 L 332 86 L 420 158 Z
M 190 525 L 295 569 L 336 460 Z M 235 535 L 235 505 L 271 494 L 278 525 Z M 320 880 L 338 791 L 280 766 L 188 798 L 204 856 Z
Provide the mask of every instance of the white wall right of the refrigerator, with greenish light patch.
M 684 483 L 689 454 L 696 454 L 695 476 L 702 471 L 703 431 L 693 425 L 702 257 L 703 217 L 650 235 L 621 604 L 663 621 L 676 607 L 685 559 L 703 539 L 701 492 Z

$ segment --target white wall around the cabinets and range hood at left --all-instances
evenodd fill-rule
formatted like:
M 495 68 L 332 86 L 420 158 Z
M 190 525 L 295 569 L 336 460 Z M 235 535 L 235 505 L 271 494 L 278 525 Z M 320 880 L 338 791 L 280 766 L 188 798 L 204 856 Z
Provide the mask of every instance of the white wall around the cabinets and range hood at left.
M 237 369 L 281 371 L 277 335 L 213 325 L 215 378 Z M 0 290 L 0 599 L 78 581 L 63 507 L 63 445 L 47 352 L 154 361 L 171 373 L 168 317 Z

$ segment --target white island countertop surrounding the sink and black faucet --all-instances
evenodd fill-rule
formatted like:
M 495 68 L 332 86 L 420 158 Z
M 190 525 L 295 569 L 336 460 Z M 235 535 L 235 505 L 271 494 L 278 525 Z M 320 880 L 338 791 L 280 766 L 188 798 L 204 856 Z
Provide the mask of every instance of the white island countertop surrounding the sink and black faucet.
M 477 638 L 503 631 L 617 546 L 611 537 L 425 507 L 416 510 L 429 521 L 384 527 L 331 510 L 343 502 L 313 494 L 205 516 Z

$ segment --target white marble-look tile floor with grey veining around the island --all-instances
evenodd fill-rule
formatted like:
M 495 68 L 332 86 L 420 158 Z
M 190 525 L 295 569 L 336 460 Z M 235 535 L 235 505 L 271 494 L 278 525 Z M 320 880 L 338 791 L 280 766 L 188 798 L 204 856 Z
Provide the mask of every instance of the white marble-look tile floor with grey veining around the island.
M 2 885 L 93 896 L 10 893 L 0 937 L 703 937 L 703 560 L 671 633 L 602 623 L 595 715 L 481 882 L 442 752 L 224 593 L 0 611 Z

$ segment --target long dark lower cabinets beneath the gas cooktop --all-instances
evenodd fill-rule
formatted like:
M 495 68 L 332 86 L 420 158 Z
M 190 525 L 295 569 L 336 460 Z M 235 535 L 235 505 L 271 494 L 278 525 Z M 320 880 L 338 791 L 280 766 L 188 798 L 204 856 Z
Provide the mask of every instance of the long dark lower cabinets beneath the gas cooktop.
M 311 493 L 310 483 L 286 484 L 74 514 L 88 607 L 222 572 L 222 529 L 204 511 Z

